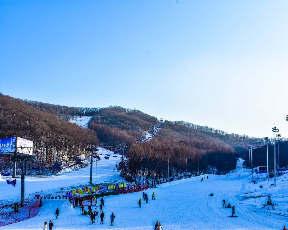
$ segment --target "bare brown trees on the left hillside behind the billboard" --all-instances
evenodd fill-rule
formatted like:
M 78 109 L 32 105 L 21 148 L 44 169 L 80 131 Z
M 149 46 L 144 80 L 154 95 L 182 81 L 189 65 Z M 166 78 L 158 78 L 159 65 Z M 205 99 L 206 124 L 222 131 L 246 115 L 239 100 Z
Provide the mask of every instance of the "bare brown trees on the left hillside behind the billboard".
M 98 143 L 93 130 L 83 129 L 0 94 L 0 139 L 14 136 L 33 141 L 34 159 L 25 161 L 27 174 L 31 173 L 32 166 L 39 166 L 40 173 L 50 173 L 56 159 L 69 165 L 74 162 L 77 152 L 86 154 L 87 143 Z M 7 167 L 12 168 L 11 155 L 1 155 L 1 173 Z

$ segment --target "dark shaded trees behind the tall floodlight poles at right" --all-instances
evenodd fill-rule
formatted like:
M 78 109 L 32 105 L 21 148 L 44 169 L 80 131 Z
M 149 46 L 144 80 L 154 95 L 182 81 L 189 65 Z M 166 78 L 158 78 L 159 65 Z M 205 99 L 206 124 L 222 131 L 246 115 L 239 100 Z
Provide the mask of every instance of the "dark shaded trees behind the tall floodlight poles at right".
M 250 160 L 249 160 L 249 150 L 244 156 L 245 165 L 249 168 L 249 161 L 251 164 L 251 150 L 250 150 Z M 278 160 L 279 159 L 279 160 Z M 278 141 L 276 139 L 276 164 L 280 163 L 280 168 L 288 167 L 288 141 L 279 140 L 279 158 L 278 158 Z M 261 146 L 255 147 L 252 152 L 252 164 L 253 167 L 257 166 L 267 166 L 267 145 L 262 143 Z M 272 143 L 268 142 L 268 165 L 269 167 L 274 167 L 274 141 Z

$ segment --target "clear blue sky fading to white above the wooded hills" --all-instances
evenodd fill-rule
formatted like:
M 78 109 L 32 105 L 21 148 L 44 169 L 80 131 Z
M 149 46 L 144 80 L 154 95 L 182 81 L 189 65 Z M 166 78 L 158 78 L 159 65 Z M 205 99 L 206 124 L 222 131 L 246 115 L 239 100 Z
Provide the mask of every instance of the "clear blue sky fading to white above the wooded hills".
M 0 1 L 0 92 L 288 137 L 288 1 Z M 274 135 L 273 135 L 274 136 Z

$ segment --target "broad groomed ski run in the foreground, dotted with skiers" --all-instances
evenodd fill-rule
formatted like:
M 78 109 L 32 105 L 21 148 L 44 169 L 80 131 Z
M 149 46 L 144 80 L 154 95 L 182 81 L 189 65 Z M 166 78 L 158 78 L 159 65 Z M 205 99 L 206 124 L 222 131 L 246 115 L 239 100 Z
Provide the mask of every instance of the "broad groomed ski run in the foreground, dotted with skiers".
M 80 171 L 80 170 L 79 170 Z M 79 172 L 77 171 L 77 172 Z M 77 173 L 75 172 L 75 173 Z M 238 176 L 240 174 L 240 177 Z M 251 186 L 251 190 L 258 185 L 248 183 L 249 171 L 237 168 L 230 175 L 208 175 L 209 179 L 201 178 L 207 175 L 164 183 L 158 188 L 148 189 L 144 192 L 148 195 L 148 203 L 142 201 L 139 208 L 137 202 L 142 198 L 142 192 L 121 194 L 118 196 L 105 197 L 103 207 L 106 218 L 104 225 L 98 223 L 90 225 L 90 218 L 82 216 L 79 208 L 73 209 L 65 202 L 44 203 L 39 214 L 27 221 L 7 225 L 1 229 L 42 229 L 45 221 L 52 220 L 53 229 L 153 229 L 156 221 L 160 221 L 164 229 L 283 229 L 287 225 L 287 218 L 269 213 L 262 207 L 249 204 L 242 200 L 244 193 Z M 268 187 L 266 191 L 273 192 L 274 188 Z M 281 185 L 278 185 L 279 188 Z M 287 187 L 287 183 L 284 183 Z M 278 189 L 279 189 L 278 188 Z M 277 189 L 277 187 L 275 188 Z M 286 188 L 284 188 L 287 191 Z M 266 192 L 263 190 L 263 192 Z M 152 193 L 156 200 L 151 200 Z M 249 191 L 248 191 L 249 192 Z M 214 193 L 214 196 L 209 195 Z M 261 191 L 259 192 L 261 193 Z M 259 195 L 258 193 L 255 195 Z M 285 194 L 286 196 L 287 194 Z M 222 208 L 222 200 L 226 205 L 235 206 L 235 215 L 238 217 L 226 217 L 232 214 L 232 208 Z M 262 198 L 259 198 L 262 199 Z M 99 204 L 100 201 L 98 201 Z M 239 204 L 243 203 L 243 205 Z M 255 202 L 256 203 L 256 202 Z M 258 204 L 258 203 L 257 203 Z M 60 210 L 60 218 L 55 220 L 56 208 Z M 287 206 L 286 206 L 287 207 Z M 87 210 L 87 207 L 86 207 Z M 94 207 L 92 207 L 94 211 Z M 114 226 L 108 226 L 111 213 L 114 212 Z M 100 212 L 99 212 L 100 214 Z M 286 223 L 285 223 L 286 222 Z M 27 227 L 28 226 L 28 227 Z

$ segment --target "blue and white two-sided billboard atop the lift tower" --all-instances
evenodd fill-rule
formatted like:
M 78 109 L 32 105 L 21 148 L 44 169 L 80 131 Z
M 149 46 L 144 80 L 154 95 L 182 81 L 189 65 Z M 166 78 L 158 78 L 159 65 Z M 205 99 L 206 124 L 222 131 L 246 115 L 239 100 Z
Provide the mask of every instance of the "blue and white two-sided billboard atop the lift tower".
M 0 154 L 31 155 L 33 152 L 33 141 L 21 137 L 9 137 L 0 139 Z

